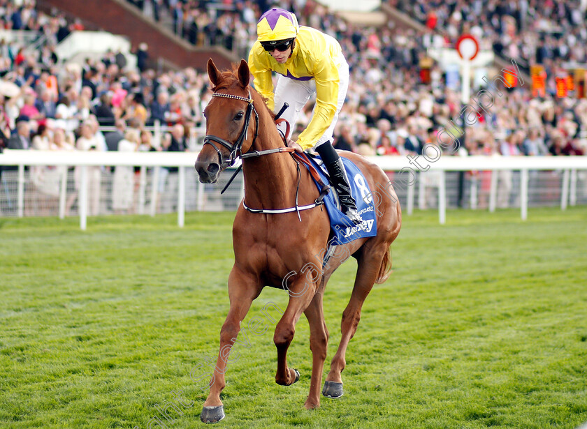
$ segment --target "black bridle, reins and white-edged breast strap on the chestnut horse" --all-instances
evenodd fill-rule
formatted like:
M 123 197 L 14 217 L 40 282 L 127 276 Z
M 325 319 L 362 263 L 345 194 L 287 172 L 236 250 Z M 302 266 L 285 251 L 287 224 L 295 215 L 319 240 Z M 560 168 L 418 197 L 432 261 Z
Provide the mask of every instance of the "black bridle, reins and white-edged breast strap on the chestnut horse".
M 250 151 L 250 149 L 249 149 L 249 151 L 242 153 L 242 144 L 247 139 L 247 134 L 248 134 L 248 130 L 249 130 L 249 122 L 251 120 L 252 112 L 254 112 L 254 114 L 255 114 L 255 135 L 254 135 L 253 141 L 251 143 L 251 148 L 254 146 L 254 143 L 256 141 L 256 137 L 259 135 L 259 114 L 256 112 L 256 109 L 253 105 L 253 99 L 251 97 L 250 89 L 249 89 L 249 96 L 248 97 L 235 96 L 233 94 L 226 94 L 226 93 L 213 93 L 212 97 L 231 98 L 233 100 L 240 100 L 240 101 L 245 101 L 246 103 L 248 103 L 247 112 L 245 113 L 245 123 L 242 126 L 242 130 L 240 131 L 240 134 L 238 135 L 238 137 L 234 143 L 231 143 L 228 140 L 224 140 L 223 138 L 217 137 L 216 135 L 212 135 L 212 134 L 207 134 L 204 137 L 203 144 L 204 145 L 210 144 L 215 149 L 216 153 L 218 154 L 219 165 L 224 165 L 224 162 L 222 160 L 222 152 L 220 152 L 220 149 L 218 149 L 218 147 L 216 146 L 216 144 L 214 144 L 214 142 L 221 144 L 222 146 L 224 146 L 226 149 L 228 149 L 230 151 L 231 155 L 229 158 L 229 164 L 228 164 L 229 166 L 232 166 L 235 163 L 235 160 L 237 158 L 241 158 L 241 159 L 256 158 L 256 157 L 263 156 L 263 155 L 269 155 L 270 153 L 282 153 L 282 152 L 283 153 L 291 153 L 293 160 L 296 161 L 296 167 L 298 169 L 298 186 L 296 188 L 296 206 L 295 207 L 289 207 L 288 209 L 251 209 L 249 206 L 247 206 L 247 204 L 245 204 L 245 200 L 243 199 L 242 205 L 245 207 L 245 209 L 247 209 L 251 213 L 269 213 L 269 214 L 289 213 L 291 211 L 296 211 L 298 213 L 298 219 L 301 222 L 302 218 L 300 217 L 300 210 L 313 209 L 314 207 L 317 207 L 317 206 L 324 204 L 324 197 L 328 193 L 328 190 L 330 190 L 330 187 L 327 185 L 324 185 L 324 183 L 322 183 L 318 172 L 310 164 L 309 160 L 307 160 L 307 156 L 305 155 L 305 153 L 297 153 L 296 149 L 293 149 L 293 147 L 287 147 L 287 146 L 278 147 L 275 149 L 266 149 L 263 151 Z M 286 107 L 287 106 L 284 105 L 284 107 L 279 112 L 279 114 L 277 114 L 277 116 L 280 116 L 280 114 L 282 114 L 283 110 Z M 279 123 L 280 121 L 285 121 L 285 120 L 284 119 L 276 119 L 275 123 Z M 286 135 L 289 135 L 289 123 L 287 123 L 287 121 L 286 121 L 286 125 L 287 125 L 287 132 L 286 132 L 287 134 Z M 286 139 L 284 137 L 284 142 L 285 142 L 285 140 Z M 310 175 L 312 176 L 312 178 L 315 181 L 317 181 L 321 185 L 321 191 L 320 191 L 319 197 L 316 200 L 314 200 L 314 203 L 307 204 L 305 206 L 298 206 L 298 192 L 300 190 L 300 180 L 301 180 L 300 162 L 307 165 L 307 167 L 309 167 L 308 170 L 310 172 Z M 233 174 L 233 176 L 231 177 L 229 182 L 226 183 L 226 186 L 224 186 L 224 189 L 222 190 L 221 194 L 224 193 L 226 188 L 229 187 L 229 185 L 232 183 L 235 176 L 238 174 L 238 172 L 240 172 L 241 168 L 242 168 L 242 164 L 239 165 L 238 169 L 235 171 L 235 173 Z

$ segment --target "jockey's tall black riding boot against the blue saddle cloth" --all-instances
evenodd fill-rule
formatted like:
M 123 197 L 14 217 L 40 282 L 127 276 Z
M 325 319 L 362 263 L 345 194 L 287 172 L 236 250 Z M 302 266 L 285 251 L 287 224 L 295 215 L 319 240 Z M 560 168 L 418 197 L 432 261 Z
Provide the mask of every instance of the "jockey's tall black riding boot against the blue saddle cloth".
M 356 211 L 356 203 L 351 195 L 351 186 L 345 167 L 342 165 L 342 160 L 338 153 L 333 148 L 331 142 L 323 143 L 316 147 L 316 151 L 326 165 L 326 170 L 330 175 L 332 186 L 338 193 L 338 200 L 340 201 L 340 209 L 342 213 L 352 220 L 352 223 L 359 225 L 363 222 L 361 216 Z

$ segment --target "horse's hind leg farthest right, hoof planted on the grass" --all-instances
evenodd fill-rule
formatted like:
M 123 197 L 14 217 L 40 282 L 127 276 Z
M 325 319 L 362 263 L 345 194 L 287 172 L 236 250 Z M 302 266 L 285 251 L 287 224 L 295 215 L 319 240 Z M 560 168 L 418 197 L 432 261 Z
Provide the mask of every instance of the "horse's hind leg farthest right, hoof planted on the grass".
M 324 396 L 328 396 L 328 398 L 339 398 L 342 396 L 342 377 L 340 373 L 346 366 L 345 355 L 347 353 L 347 346 L 356 332 L 358 321 L 361 319 L 363 302 L 365 302 L 375 280 L 377 280 L 383 257 L 388 248 L 389 244 L 385 243 L 377 243 L 374 246 L 368 246 L 365 243 L 365 247 L 363 247 L 361 255 L 358 257 L 358 269 L 353 292 L 347 308 L 342 313 L 342 322 L 340 323 L 342 337 L 340 338 L 340 344 L 338 345 L 336 354 L 332 359 L 331 370 L 326 376 L 326 382 L 324 382 L 324 389 L 322 391 Z

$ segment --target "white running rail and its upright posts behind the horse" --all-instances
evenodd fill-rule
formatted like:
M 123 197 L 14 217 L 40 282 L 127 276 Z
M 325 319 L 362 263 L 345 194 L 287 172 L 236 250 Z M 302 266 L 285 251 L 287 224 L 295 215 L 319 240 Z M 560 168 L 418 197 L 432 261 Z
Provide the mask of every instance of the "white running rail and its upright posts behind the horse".
M 144 202 L 145 177 L 147 167 L 178 167 L 178 193 L 177 193 L 177 225 L 184 225 L 185 212 L 185 194 L 186 194 L 186 167 L 194 168 L 194 162 L 198 156 L 195 152 L 82 152 L 82 151 L 17 151 L 6 150 L 0 154 L 0 165 L 17 165 L 17 216 L 24 216 L 24 184 L 25 166 L 66 166 L 80 167 L 80 188 L 79 188 L 79 214 L 80 227 L 85 229 L 87 226 L 87 206 L 88 206 L 88 174 L 87 168 L 92 166 L 140 166 L 140 183 L 141 195 Z M 427 163 L 419 159 L 419 167 L 410 163 L 404 156 L 373 156 L 368 158 L 373 163 L 379 165 L 386 172 L 399 172 L 394 177 L 393 186 L 396 190 L 405 190 L 407 193 L 407 203 L 405 211 L 407 214 L 412 213 L 414 209 L 414 184 L 415 177 L 434 175 L 433 187 L 437 188 L 437 203 L 439 220 L 441 224 L 446 222 L 447 210 L 447 183 L 446 172 L 470 172 L 470 171 L 490 171 L 491 187 L 489 190 L 488 209 L 495 211 L 498 174 L 499 171 L 519 171 L 520 172 L 520 209 L 521 218 L 526 220 L 528 217 L 528 176 L 531 171 L 539 170 L 560 170 L 563 171 L 563 180 L 560 189 L 560 208 L 565 210 L 569 202 L 574 205 L 577 202 L 577 170 L 587 170 L 587 156 L 548 156 L 548 157 L 486 157 L 486 156 L 469 156 L 469 157 L 451 157 L 443 156 L 434 163 Z M 428 168 L 429 167 L 429 168 Z M 419 170 L 426 170 L 421 172 Z M 151 206 L 150 214 L 154 216 L 157 186 L 159 180 L 159 169 L 155 168 L 152 174 L 151 186 Z M 423 207 L 423 186 L 425 181 L 419 180 L 419 206 Z M 472 182 L 473 183 L 473 182 Z M 59 193 L 59 217 L 65 216 L 67 170 L 64 169 L 61 177 L 61 189 Z M 430 186 L 430 185 L 428 185 Z M 197 188 L 198 200 L 197 209 L 202 209 L 200 204 L 204 186 L 200 183 Z M 375 190 L 372 190 L 375 193 Z M 142 193 L 142 194 L 141 194 Z M 399 193 L 398 193 L 399 194 Z M 470 200 L 472 208 L 477 207 L 477 186 L 471 186 Z M 140 213 L 140 211 L 139 211 Z

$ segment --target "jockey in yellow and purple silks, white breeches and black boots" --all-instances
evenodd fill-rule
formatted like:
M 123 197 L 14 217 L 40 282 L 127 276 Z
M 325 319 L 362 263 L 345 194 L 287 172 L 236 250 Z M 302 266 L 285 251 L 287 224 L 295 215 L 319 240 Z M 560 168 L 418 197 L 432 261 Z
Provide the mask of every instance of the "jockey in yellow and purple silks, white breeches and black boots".
M 296 15 L 279 8 L 261 15 L 257 36 L 249 53 L 256 90 L 270 110 L 289 103 L 291 109 L 282 118 L 292 126 L 307 100 L 316 93 L 312 120 L 297 142 L 288 140 L 287 145 L 297 151 L 315 147 L 338 193 L 342 213 L 360 224 L 363 220 L 357 213 L 345 167 L 332 146 L 334 126 L 349 86 L 349 65 L 340 44 L 321 31 L 300 27 Z M 272 71 L 280 74 L 275 94 Z

